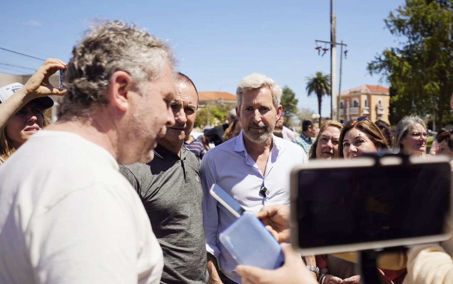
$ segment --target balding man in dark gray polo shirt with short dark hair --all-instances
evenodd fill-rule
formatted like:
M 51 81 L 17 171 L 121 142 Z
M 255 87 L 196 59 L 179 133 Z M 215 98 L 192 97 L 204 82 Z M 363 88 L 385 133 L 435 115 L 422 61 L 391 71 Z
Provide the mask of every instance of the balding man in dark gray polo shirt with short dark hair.
M 123 165 L 120 171 L 140 195 L 164 252 L 160 282 L 206 283 L 199 163 L 183 147 L 195 122 L 198 92 L 192 80 L 182 73 L 176 75 L 175 81 L 177 94 L 171 104 L 175 124 L 158 138 L 154 160 Z

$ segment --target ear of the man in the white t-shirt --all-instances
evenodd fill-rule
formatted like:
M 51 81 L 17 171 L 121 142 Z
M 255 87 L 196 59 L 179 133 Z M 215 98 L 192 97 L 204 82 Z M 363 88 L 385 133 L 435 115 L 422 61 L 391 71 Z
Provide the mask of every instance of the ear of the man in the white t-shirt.
M 110 101 L 119 110 L 125 112 L 129 108 L 132 78 L 130 74 L 119 70 L 110 79 Z

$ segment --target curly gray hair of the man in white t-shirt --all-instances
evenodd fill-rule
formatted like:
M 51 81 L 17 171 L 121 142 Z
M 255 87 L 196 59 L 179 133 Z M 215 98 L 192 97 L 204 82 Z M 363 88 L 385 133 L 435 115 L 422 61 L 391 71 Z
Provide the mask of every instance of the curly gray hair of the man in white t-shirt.
M 107 104 L 104 95 L 112 74 L 130 74 L 134 88 L 159 78 L 174 58 L 167 44 L 134 24 L 120 20 L 93 26 L 77 46 L 65 71 L 67 94 L 60 103 L 59 115 L 85 116 L 93 104 Z

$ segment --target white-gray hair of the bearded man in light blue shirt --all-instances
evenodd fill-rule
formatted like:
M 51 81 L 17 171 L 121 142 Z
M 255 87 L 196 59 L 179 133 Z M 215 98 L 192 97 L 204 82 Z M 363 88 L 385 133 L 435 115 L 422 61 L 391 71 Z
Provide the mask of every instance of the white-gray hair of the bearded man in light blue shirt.
M 264 74 L 251 73 L 241 80 L 241 83 L 236 88 L 236 103 L 237 107 L 241 109 L 242 96 L 246 91 L 254 90 L 262 87 L 269 87 L 272 92 L 272 101 L 275 108 L 280 104 L 282 96 L 282 88 L 275 83 L 272 78 L 267 77 Z

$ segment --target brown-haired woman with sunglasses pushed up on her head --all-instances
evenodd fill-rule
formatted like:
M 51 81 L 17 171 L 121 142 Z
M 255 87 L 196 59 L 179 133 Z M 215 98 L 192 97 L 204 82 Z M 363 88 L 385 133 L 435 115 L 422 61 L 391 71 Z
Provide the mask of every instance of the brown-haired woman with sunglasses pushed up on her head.
M 363 153 L 387 149 L 386 137 L 369 117 L 358 117 L 343 124 L 340 134 L 340 157 L 353 159 Z

